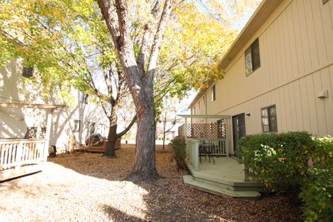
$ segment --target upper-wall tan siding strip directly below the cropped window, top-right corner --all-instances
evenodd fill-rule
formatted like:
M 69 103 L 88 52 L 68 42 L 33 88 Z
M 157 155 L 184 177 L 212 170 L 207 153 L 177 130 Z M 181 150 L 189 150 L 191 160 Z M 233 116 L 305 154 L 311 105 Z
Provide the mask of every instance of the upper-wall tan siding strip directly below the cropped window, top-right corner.
M 323 24 L 323 31 L 325 33 L 325 48 L 327 53 L 327 60 L 333 61 L 333 19 L 330 15 L 330 7 L 321 6 L 321 19 Z

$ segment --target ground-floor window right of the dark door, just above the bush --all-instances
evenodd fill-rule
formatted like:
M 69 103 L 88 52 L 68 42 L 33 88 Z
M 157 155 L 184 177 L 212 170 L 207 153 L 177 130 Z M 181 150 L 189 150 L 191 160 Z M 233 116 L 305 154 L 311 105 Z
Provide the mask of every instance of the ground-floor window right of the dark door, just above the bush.
M 262 108 L 262 132 L 278 132 L 275 105 Z

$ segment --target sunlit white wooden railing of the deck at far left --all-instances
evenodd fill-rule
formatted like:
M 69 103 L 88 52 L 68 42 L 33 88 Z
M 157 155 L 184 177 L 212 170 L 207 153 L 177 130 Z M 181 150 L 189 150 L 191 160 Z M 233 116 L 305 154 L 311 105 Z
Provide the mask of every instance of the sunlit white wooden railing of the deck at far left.
M 0 139 L 0 170 L 46 161 L 49 139 Z

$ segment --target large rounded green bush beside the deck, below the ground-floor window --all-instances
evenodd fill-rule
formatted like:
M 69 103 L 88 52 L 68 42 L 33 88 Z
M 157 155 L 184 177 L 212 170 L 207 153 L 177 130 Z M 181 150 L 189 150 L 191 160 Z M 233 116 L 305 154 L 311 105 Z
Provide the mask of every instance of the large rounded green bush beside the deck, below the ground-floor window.
M 313 144 L 307 132 L 250 135 L 239 141 L 236 154 L 269 190 L 298 192 Z

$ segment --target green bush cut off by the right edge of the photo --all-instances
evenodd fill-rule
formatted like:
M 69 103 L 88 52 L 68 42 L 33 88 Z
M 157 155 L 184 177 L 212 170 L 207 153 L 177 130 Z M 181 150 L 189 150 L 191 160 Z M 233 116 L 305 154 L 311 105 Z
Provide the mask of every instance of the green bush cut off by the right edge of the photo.
M 333 221 L 333 137 L 314 139 L 300 198 L 306 221 Z

